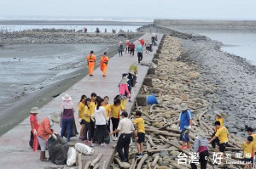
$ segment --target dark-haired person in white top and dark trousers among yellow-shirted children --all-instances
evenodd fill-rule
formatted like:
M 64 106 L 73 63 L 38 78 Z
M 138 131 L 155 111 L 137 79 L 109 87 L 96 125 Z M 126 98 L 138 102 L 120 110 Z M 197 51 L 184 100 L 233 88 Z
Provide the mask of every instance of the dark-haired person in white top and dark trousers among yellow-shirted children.
M 107 130 L 107 115 L 106 110 L 103 107 L 104 99 L 97 100 L 97 106 L 95 108 L 95 124 L 96 124 L 96 134 L 93 137 L 91 147 L 95 145 L 95 141 L 97 138 L 98 144 L 101 144 L 104 147 L 106 144 L 104 142 L 104 137 L 106 135 Z

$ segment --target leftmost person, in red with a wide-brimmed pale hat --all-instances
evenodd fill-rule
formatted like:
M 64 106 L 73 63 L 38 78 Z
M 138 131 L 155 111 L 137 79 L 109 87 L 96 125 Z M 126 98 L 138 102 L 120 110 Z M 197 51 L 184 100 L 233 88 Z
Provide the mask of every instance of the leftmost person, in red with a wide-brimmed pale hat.
M 38 107 L 33 107 L 30 111 L 30 127 L 31 127 L 31 134 L 33 135 L 33 150 L 38 150 L 38 128 L 39 128 L 39 121 L 38 121 L 38 113 L 41 113 L 41 111 L 38 109 Z

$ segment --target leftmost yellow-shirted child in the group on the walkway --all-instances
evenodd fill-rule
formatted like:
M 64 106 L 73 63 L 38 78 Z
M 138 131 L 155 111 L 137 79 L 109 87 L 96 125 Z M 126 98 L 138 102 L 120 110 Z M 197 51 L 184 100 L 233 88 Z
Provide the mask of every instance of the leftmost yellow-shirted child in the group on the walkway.
M 79 102 L 79 123 L 81 125 L 81 129 L 80 129 L 80 136 L 79 138 L 81 140 L 84 140 L 84 106 L 85 106 L 85 99 L 87 99 L 87 97 L 85 95 L 81 96 L 80 102 Z

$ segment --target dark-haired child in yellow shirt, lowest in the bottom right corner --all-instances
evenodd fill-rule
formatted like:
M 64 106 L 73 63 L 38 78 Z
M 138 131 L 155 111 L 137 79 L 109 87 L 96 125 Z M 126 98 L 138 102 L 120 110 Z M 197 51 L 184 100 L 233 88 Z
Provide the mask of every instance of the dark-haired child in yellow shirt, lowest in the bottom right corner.
M 241 144 L 241 148 L 243 149 L 243 158 L 246 166 L 244 168 L 252 168 L 253 163 L 253 136 L 248 136 L 247 141 Z

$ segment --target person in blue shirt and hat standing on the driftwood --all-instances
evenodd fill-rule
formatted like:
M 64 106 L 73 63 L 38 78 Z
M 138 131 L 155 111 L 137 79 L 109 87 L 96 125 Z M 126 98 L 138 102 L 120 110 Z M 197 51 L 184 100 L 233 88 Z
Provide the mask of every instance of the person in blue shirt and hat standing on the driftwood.
M 181 111 L 177 122 L 177 124 L 179 125 L 179 129 L 181 130 L 180 140 L 183 141 L 181 150 L 185 149 L 186 147 L 187 149 L 191 149 L 189 144 L 189 130 L 191 129 L 192 125 L 192 113 L 189 110 L 188 106 L 184 103 L 179 105 L 178 110 Z

